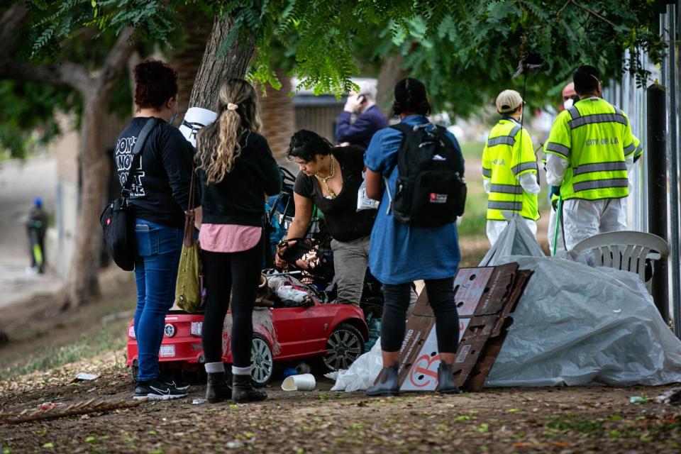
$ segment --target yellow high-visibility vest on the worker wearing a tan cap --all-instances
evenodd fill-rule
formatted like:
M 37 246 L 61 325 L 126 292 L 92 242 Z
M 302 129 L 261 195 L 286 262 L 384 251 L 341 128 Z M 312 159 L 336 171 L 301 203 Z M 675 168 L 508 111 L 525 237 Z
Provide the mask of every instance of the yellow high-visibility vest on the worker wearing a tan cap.
M 513 118 L 499 120 L 482 150 L 482 177 L 490 183 L 487 219 L 504 221 L 503 211 L 515 211 L 536 221 L 537 196 L 524 191 L 518 177 L 537 172 L 530 135 Z

